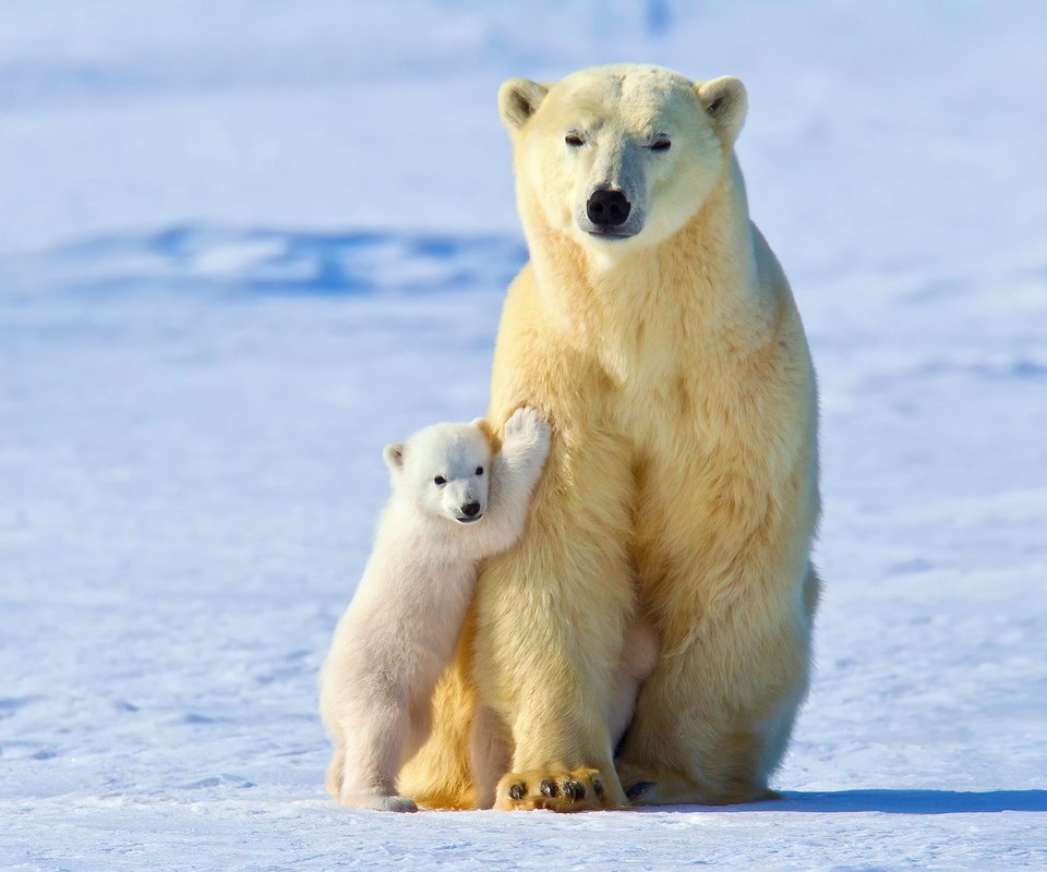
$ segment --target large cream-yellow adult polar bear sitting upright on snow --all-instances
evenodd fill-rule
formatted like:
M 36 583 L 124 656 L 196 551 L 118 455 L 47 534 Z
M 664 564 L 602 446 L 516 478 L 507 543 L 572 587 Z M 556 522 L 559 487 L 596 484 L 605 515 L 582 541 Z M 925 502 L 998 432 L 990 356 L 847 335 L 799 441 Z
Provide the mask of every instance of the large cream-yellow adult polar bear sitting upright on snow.
M 554 437 L 401 789 L 458 808 L 759 799 L 808 686 L 819 497 L 806 339 L 733 153 L 745 89 L 619 65 L 512 80 L 498 102 L 531 261 L 489 417 L 533 405 Z M 634 616 L 661 655 L 615 760 Z

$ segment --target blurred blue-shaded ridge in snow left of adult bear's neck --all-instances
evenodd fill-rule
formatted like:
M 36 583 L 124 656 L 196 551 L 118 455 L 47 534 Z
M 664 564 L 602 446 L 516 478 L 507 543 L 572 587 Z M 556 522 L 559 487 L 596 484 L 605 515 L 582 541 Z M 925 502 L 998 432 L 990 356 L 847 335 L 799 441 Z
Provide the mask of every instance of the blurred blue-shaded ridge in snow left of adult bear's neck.
M 337 296 L 501 293 L 526 259 L 522 241 L 505 235 L 186 225 L 81 240 L 49 252 L 46 265 L 73 289 Z

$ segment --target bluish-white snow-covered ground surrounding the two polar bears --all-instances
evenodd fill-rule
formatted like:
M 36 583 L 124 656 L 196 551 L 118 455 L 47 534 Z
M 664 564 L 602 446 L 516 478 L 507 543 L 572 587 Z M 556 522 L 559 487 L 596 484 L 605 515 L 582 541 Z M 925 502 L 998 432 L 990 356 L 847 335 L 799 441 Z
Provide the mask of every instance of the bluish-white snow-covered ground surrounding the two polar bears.
M 0 8 L 0 868 L 1047 868 L 1047 8 Z M 315 673 L 380 451 L 485 405 L 500 82 L 741 75 L 819 370 L 781 801 L 380 816 Z

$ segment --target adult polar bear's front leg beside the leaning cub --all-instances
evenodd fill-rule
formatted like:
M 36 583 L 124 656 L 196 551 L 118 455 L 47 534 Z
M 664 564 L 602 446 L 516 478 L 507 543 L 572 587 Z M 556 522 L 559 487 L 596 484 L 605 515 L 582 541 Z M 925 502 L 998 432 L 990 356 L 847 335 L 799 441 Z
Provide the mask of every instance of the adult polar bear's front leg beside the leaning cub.
M 634 600 L 630 485 L 619 438 L 557 429 L 524 537 L 481 576 L 473 673 L 512 742 L 495 808 L 626 803 L 610 717 Z

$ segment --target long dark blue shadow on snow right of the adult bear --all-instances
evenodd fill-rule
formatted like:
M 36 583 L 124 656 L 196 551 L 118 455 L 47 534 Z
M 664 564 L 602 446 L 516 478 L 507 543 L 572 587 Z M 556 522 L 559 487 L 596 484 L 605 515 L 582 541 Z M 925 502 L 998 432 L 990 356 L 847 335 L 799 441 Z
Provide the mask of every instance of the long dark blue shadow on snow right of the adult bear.
M 780 799 L 746 806 L 648 807 L 674 812 L 882 812 L 884 814 L 985 814 L 1047 812 L 1047 790 L 835 790 L 783 792 Z

